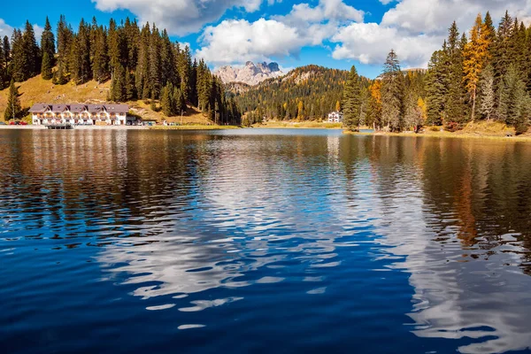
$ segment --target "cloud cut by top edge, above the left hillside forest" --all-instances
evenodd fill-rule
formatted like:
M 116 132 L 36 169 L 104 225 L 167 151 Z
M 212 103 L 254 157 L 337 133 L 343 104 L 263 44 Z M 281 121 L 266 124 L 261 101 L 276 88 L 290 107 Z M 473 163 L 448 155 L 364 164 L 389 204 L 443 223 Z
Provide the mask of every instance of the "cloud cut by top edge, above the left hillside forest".
M 271 2 L 273 0 L 269 0 Z M 256 12 L 262 0 L 92 0 L 105 12 L 127 9 L 141 22 L 154 22 L 173 35 L 199 31 L 205 24 L 219 19 L 230 8 Z M 274 2 L 274 1 L 273 1 Z

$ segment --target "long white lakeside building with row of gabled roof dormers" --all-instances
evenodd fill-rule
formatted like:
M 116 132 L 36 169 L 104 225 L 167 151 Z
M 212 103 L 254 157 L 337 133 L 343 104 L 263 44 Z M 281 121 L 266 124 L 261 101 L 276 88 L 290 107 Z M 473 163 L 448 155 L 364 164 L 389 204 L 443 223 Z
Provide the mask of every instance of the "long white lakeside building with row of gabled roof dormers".
M 127 104 L 34 104 L 29 112 L 35 125 L 125 126 L 129 106 Z

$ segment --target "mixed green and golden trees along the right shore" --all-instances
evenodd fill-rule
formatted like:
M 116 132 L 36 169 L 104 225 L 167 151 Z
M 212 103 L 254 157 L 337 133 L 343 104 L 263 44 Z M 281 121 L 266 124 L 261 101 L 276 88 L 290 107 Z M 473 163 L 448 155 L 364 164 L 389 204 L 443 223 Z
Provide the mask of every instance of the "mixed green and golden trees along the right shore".
M 366 92 L 353 67 L 343 94 L 345 125 L 402 131 L 422 125 L 454 131 L 469 122 L 496 120 L 527 131 L 531 109 L 531 27 L 508 12 L 496 29 L 487 12 L 469 35 L 454 22 L 427 72 L 404 73 L 391 50 L 384 71 Z M 366 111 L 364 110 L 366 107 Z

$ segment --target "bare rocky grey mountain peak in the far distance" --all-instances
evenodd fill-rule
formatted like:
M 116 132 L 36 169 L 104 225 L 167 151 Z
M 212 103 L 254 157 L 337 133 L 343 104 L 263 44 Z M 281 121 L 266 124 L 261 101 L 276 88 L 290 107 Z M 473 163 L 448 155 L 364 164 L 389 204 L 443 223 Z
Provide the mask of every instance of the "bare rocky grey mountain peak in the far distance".
M 258 63 L 248 61 L 245 66 L 238 68 L 230 65 L 221 66 L 214 75 L 219 76 L 219 79 L 225 83 L 229 82 L 243 82 L 248 85 L 258 85 L 258 83 L 267 79 L 276 78 L 284 73 L 279 69 L 277 63 Z

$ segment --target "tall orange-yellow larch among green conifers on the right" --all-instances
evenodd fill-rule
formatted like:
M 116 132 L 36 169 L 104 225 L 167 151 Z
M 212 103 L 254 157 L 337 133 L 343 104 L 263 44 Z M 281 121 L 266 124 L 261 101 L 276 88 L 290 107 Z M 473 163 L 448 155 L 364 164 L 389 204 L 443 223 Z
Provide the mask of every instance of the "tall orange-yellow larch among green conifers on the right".
M 481 19 L 481 14 L 478 14 L 470 31 L 470 41 L 465 46 L 465 61 L 463 63 L 466 90 L 472 99 L 472 121 L 475 114 L 476 96 L 481 71 L 489 56 L 489 38 L 489 27 L 485 26 Z

